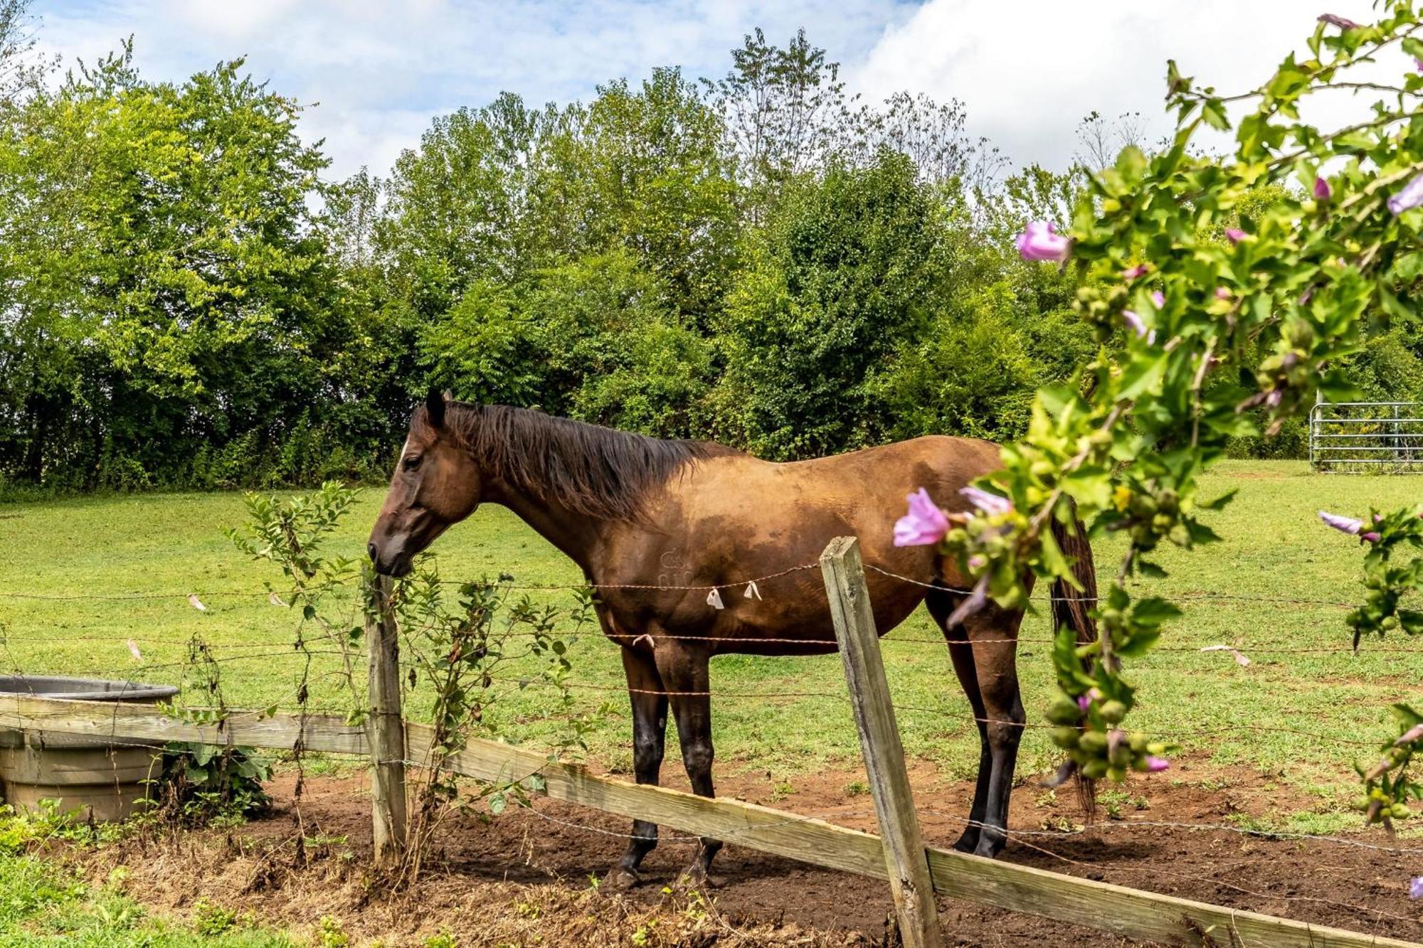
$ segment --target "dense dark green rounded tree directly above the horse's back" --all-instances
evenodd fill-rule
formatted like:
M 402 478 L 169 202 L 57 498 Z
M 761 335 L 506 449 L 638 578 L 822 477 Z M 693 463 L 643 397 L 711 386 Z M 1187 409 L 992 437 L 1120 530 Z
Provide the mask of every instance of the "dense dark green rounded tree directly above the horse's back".
M 904 155 L 787 185 L 751 235 L 717 333 L 716 424 L 767 457 L 877 443 L 894 427 L 879 377 L 928 325 L 941 228 Z

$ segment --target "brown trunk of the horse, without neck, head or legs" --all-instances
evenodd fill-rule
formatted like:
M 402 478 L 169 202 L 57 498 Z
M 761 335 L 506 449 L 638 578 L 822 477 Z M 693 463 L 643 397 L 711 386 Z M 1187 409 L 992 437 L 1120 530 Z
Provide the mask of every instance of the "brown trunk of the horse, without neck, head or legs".
M 707 594 L 697 589 L 670 599 L 629 596 L 684 633 L 727 635 L 743 645 L 763 636 L 824 639 L 831 631 L 820 571 L 793 568 L 813 567 L 831 539 L 854 535 L 869 567 L 877 622 L 888 632 L 924 598 L 922 584 L 962 582 L 933 547 L 894 545 L 905 497 L 924 487 L 941 507 L 965 510 L 958 490 L 998 465 L 998 446 L 952 437 L 793 463 L 714 454 L 669 484 L 657 530 L 629 530 L 609 558 L 625 575 L 603 582 L 656 576 L 656 585 L 724 584 L 730 594 L 723 596 L 724 609 L 709 608 Z M 758 592 L 774 599 L 747 599 L 747 581 L 763 576 L 773 579 Z

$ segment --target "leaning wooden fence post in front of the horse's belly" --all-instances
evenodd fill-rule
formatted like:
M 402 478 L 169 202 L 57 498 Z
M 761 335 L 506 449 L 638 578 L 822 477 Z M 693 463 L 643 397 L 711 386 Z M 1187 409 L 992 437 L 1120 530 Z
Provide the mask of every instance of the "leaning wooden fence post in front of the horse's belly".
M 889 682 L 885 680 L 884 658 L 879 655 L 859 541 L 854 537 L 830 541 L 820 555 L 820 569 L 825 576 L 830 615 L 835 622 L 835 639 L 859 727 L 859 749 L 879 817 L 899 937 L 905 948 L 941 948 L 943 939 L 933 904 L 933 881 L 909 791 L 909 774 L 904 767 L 899 725 L 889 703 Z

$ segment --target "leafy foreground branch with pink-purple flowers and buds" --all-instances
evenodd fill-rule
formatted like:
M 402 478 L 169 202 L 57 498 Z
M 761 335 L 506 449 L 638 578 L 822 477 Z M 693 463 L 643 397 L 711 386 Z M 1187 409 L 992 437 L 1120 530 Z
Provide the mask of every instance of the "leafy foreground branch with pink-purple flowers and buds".
M 1037 393 L 1026 437 L 979 481 L 973 514 L 943 515 L 921 493 L 915 530 L 896 531 L 896 542 L 939 542 L 958 557 L 975 581 L 965 606 L 993 598 L 1006 608 L 1027 608 L 1033 574 L 1076 582 L 1053 531 L 1042 530 L 1049 518 L 1070 527 L 1080 515 L 1091 537 L 1127 537 L 1094 611 L 1097 641 L 1080 645 L 1060 631 L 1053 648 L 1062 693 L 1049 719 L 1086 777 L 1121 780 L 1164 766 L 1163 744 L 1120 727 L 1134 703 L 1124 669 L 1180 611 L 1161 598 L 1136 599 L 1127 585 L 1165 575 L 1151 559 L 1161 542 L 1218 539 L 1200 517 L 1229 497 L 1202 500 L 1200 473 L 1231 438 L 1272 434 L 1308 411 L 1316 391 L 1350 396 L 1336 366 L 1362 344 L 1365 322 L 1416 315 L 1423 124 L 1414 120 L 1423 110 L 1403 102 L 1423 93 L 1414 36 L 1423 24 L 1413 0 L 1380 7 L 1373 24 L 1322 17 L 1309 57 L 1286 57 L 1247 97 L 1197 90 L 1170 65 L 1174 139 L 1150 157 L 1126 148 L 1091 178 L 1070 226 L 1030 222 L 1017 241 L 1025 260 L 1077 275 L 1074 309 L 1097 333 L 1097 357 L 1072 384 Z M 1399 85 L 1345 75 L 1390 44 L 1413 57 L 1400 64 Z M 1321 131 L 1299 120 L 1298 101 L 1325 88 L 1377 88 L 1396 104 L 1380 101 L 1366 121 Z M 1255 108 L 1232 124 L 1225 104 L 1244 98 Z M 1234 132 L 1228 159 L 1188 152 L 1205 127 Z M 1389 559 L 1400 544 L 1423 544 L 1416 511 L 1377 514 L 1368 530 L 1359 521 L 1349 532 L 1368 547 L 1373 584 L 1349 619 L 1356 636 L 1423 631 L 1423 612 L 1397 606 L 1405 591 L 1423 586 L 1423 567 Z M 1417 740 L 1390 744 L 1390 753 L 1410 754 Z M 1402 766 L 1369 777 L 1370 793 L 1387 800 L 1376 813 L 1393 814 L 1400 794 L 1412 793 Z

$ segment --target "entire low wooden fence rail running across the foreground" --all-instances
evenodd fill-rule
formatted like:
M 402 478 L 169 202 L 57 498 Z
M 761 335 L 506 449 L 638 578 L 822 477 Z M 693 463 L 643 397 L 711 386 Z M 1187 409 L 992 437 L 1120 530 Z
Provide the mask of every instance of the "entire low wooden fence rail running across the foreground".
M 36 733 L 85 734 L 125 740 L 184 740 L 290 750 L 366 754 L 364 727 L 334 717 L 236 715 L 216 725 L 192 725 L 152 705 L 98 705 L 28 696 L 0 696 L 0 727 Z M 406 723 L 411 760 L 427 760 L 433 730 Z M 697 797 L 665 787 L 638 786 L 596 776 L 578 764 L 558 763 L 541 752 L 471 739 L 445 766 L 478 780 L 522 780 L 541 774 L 544 793 L 623 817 L 712 836 L 763 853 L 887 880 L 878 836 L 838 827 L 740 800 Z M 1094 883 L 1002 860 L 986 860 L 925 847 L 933 890 L 1019 912 L 1165 944 L 1282 945 L 1285 948 L 1419 948 L 1419 942 L 1311 925 L 1171 895 Z

